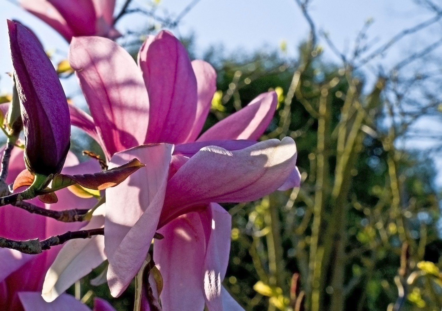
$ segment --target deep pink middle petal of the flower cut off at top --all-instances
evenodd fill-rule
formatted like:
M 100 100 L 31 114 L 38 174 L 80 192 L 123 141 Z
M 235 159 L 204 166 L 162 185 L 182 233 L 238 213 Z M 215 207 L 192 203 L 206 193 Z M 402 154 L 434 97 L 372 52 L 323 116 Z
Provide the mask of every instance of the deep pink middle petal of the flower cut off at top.
M 95 8 L 91 0 L 48 0 L 65 18 L 74 36 L 95 34 Z

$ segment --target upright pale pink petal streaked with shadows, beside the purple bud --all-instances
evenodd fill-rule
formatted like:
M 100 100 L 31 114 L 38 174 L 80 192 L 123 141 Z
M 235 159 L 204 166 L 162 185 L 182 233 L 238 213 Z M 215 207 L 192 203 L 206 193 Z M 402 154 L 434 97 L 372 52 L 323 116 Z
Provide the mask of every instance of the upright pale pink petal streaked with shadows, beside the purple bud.
M 129 53 L 107 38 L 78 37 L 72 39 L 69 63 L 76 70 L 107 156 L 143 144 L 149 99 Z

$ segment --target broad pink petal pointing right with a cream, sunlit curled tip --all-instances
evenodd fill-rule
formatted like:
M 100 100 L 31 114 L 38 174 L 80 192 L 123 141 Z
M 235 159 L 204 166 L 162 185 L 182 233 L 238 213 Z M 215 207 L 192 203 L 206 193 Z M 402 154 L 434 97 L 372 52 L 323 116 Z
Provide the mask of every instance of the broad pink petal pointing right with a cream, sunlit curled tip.
M 159 228 L 195 206 L 248 202 L 277 190 L 295 168 L 296 157 L 290 137 L 235 151 L 202 148 L 169 180 Z

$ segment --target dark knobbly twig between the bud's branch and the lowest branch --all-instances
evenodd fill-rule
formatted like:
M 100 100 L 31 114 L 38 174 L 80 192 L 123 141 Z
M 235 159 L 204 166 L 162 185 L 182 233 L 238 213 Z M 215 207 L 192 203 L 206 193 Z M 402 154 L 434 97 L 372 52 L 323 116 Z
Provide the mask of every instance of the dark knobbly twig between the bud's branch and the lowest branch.
M 12 205 L 20 209 L 24 209 L 32 214 L 50 217 L 66 223 L 84 221 L 84 216 L 86 216 L 89 211 L 89 209 L 66 209 L 64 211 L 53 211 L 50 209 L 43 209 L 26 201 L 17 201 L 15 203 L 12 203 Z

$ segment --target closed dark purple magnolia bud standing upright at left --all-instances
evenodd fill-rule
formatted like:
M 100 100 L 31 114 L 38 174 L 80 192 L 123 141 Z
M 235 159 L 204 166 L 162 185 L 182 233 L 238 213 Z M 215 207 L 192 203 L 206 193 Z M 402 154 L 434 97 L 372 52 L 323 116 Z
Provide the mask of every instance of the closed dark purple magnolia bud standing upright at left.
M 25 163 L 31 172 L 59 173 L 70 146 L 69 107 L 57 73 L 40 43 L 8 20 L 12 65 L 25 134 Z

